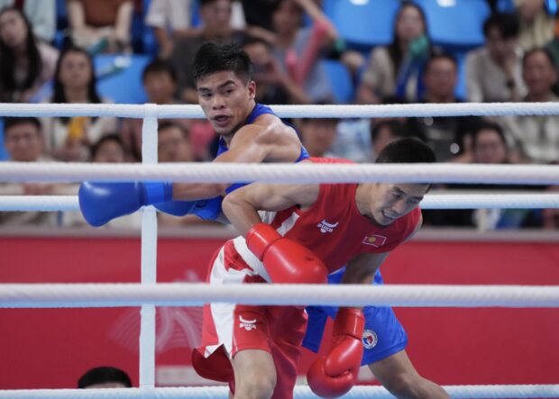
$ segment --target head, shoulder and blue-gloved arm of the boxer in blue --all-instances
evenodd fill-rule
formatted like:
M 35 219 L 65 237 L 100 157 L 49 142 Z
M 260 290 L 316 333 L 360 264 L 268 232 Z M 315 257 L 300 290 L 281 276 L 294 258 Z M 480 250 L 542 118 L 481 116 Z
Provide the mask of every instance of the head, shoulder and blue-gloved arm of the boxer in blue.
M 203 45 L 194 61 L 194 77 L 198 103 L 219 135 L 220 151 L 214 162 L 295 162 L 308 157 L 297 131 L 269 107 L 255 103 L 252 62 L 238 46 L 213 42 Z M 194 213 L 215 220 L 228 186 L 85 182 L 78 199 L 82 214 L 93 226 L 102 226 L 144 205 L 175 215 Z

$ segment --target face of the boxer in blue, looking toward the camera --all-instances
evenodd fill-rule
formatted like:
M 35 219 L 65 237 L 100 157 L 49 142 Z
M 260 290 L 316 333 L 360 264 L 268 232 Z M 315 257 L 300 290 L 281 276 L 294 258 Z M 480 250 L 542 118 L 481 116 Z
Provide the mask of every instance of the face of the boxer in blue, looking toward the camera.
M 215 72 L 197 81 L 198 104 L 215 132 L 225 136 L 236 131 L 254 106 L 256 84 L 243 82 L 232 71 Z

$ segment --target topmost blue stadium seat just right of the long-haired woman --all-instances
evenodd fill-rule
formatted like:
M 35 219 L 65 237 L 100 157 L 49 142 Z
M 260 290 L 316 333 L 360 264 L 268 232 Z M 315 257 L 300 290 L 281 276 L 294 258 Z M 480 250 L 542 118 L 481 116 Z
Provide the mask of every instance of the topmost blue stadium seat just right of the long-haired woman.
M 485 42 L 483 22 L 490 15 L 486 0 L 415 0 L 426 14 L 429 35 L 446 48 L 472 49 Z

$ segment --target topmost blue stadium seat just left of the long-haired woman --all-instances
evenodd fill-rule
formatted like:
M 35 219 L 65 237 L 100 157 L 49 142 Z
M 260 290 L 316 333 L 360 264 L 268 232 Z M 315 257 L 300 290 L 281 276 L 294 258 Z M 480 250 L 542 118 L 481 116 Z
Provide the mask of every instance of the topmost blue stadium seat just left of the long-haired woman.
M 324 0 L 323 10 L 348 46 L 368 50 L 388 44 L 398 0 Z

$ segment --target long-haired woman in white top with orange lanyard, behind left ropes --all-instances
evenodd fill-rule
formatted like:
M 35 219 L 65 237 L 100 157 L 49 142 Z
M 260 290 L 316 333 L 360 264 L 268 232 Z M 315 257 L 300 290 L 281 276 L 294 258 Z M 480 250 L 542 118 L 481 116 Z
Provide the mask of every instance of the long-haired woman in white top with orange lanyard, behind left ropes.
M 60 54 L 54 76 L 52 103 L 108 104 L 96 90 L 96 76 L 91 57 L 85 50 L 69 47 Z M 104 134 L 116 131 L 112 116 L 43 118 L 48 153 L 60 160 L 87 161 L 89 145 Z

